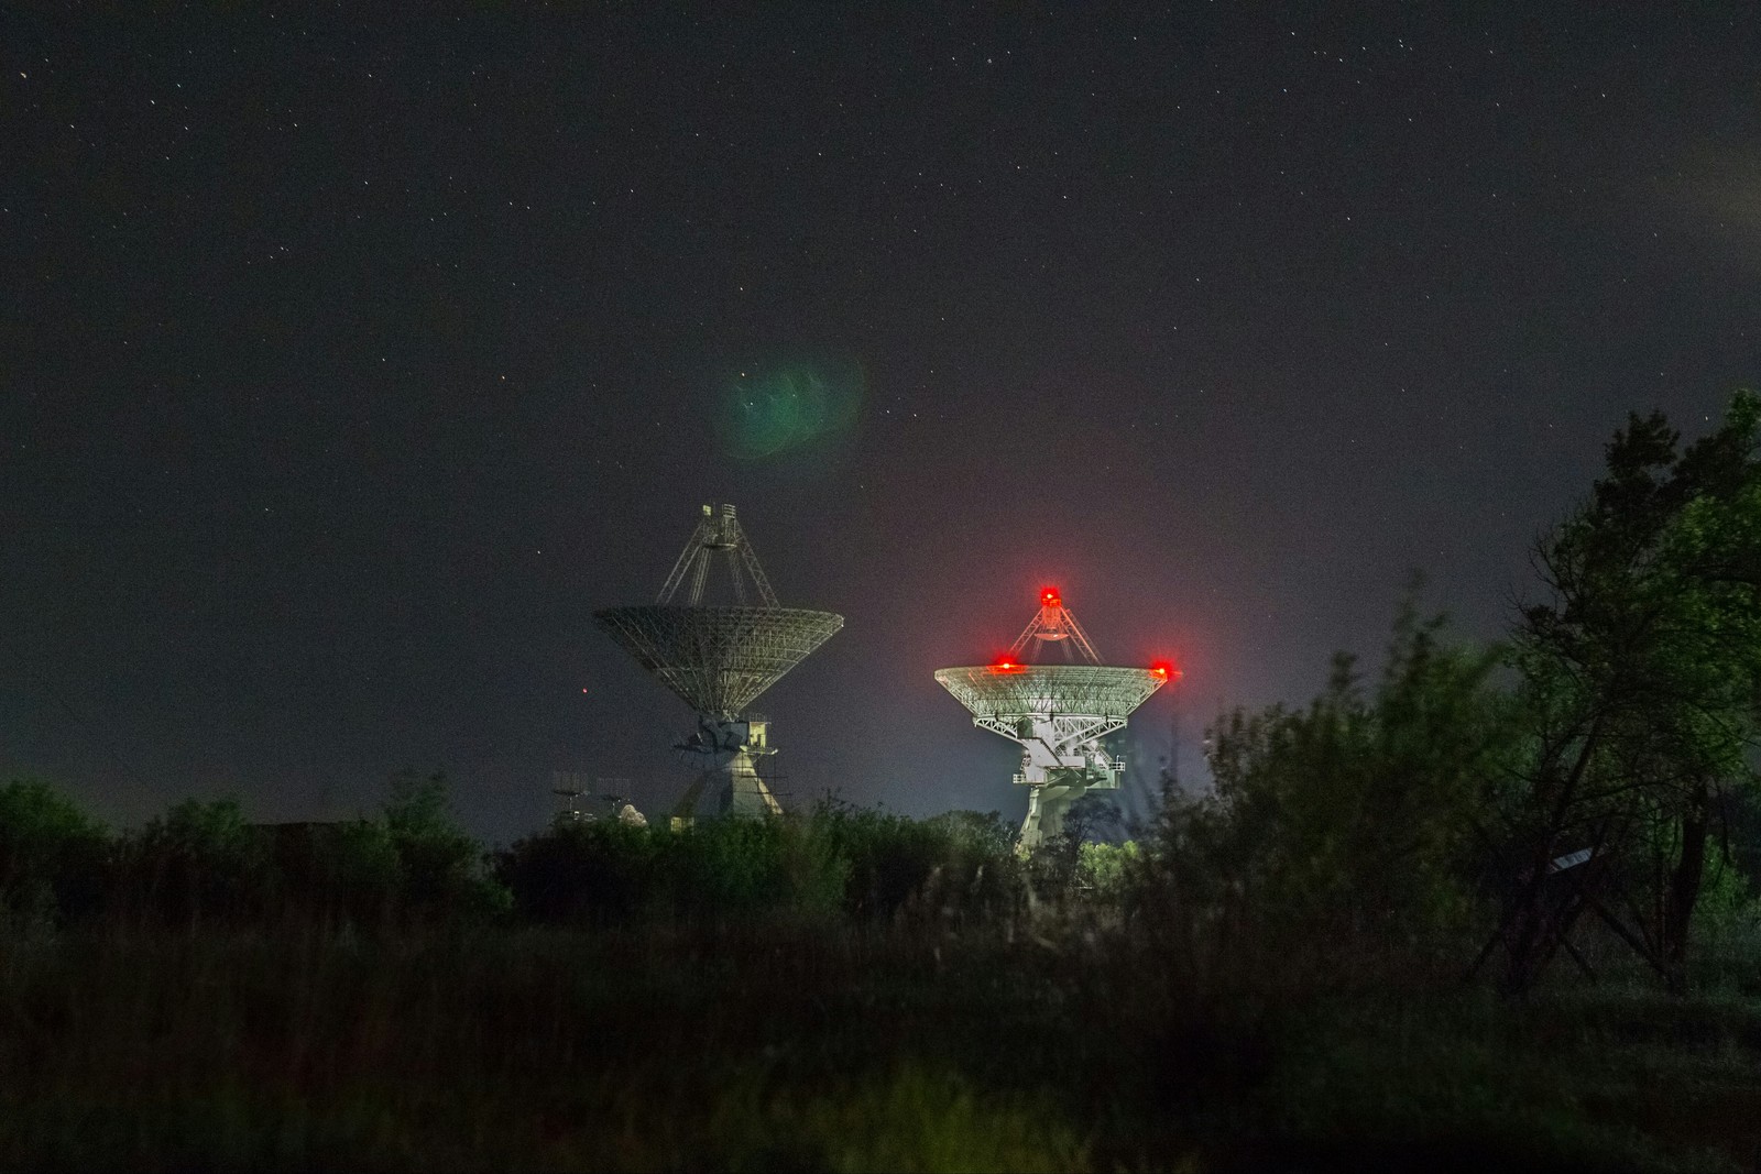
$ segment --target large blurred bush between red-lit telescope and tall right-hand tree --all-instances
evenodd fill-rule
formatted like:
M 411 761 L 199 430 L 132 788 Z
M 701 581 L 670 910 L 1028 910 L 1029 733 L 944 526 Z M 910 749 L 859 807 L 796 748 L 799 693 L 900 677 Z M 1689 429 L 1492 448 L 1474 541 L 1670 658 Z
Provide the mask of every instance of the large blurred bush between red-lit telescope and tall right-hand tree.
M 1234 711 L 1210 730 L 1215 792 L 1171 794 L 1134 896 L 1153 933 L 1266 973 L 1467 966 L 1483 940 L 1476 817 L 1509 748 L 1492 651 L 1448 648 L 1409 605 L 1365 690 L 1335 658 L 1305 709 Z M 1178 929 L 1175 929 L 1178 928 Z

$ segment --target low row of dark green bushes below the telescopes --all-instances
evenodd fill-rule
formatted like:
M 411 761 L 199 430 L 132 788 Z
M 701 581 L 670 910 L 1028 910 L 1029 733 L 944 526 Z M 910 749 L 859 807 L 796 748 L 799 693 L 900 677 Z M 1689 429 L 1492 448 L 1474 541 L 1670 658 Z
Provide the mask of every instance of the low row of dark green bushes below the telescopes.
M 48 783 L 0 787 L 0 921 L 12 931 L 977 922 L 1018 914 L 1030 889 L 1116 885 L 1131 855 L 1067 836 L 1023 859 L 995 811 L 914 820 L 829 796 L 801 815 L 680 831 L 560 818 L 486 848 L 453 818 L 444 774 L 394 776 L 382 810 L 354 820 L 250 824 L 236 799 L 187 799 L 123 833 Z

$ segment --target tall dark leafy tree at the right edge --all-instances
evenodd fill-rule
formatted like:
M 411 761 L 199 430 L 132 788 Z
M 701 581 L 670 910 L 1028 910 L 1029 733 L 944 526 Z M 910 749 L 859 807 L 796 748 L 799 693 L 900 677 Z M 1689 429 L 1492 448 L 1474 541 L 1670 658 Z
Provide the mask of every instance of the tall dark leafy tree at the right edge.
M 1761 730 L 1757 422 L 1761 401 L 1738 393 L 1682 451 L 1662 414 L 1632 415 L 1590 500 L 1536 549 L 1546 598 L 1513 641 L 1530 746 L 1502 804 L 1522 848 L 1507 989 L 1534 980 L 1580 908 L 1684 989 L 1719 797 L 1754 783 Z M 1585 847 L 1585 899 L 1551 899 L 1550 861 Z

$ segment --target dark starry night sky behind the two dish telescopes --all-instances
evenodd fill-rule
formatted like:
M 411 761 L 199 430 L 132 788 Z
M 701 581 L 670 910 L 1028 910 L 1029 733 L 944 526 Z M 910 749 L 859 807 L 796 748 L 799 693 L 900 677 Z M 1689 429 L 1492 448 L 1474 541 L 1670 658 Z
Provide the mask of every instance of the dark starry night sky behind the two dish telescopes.
M 590 613 L 724 500 L 791 803 L 1018 818 L 930 674 L 1041 584 L 1192 776 L 1761 384 L 1750 4 L 380 11 L 0 12 L 0 776 L 116 824 L 664 810 Z

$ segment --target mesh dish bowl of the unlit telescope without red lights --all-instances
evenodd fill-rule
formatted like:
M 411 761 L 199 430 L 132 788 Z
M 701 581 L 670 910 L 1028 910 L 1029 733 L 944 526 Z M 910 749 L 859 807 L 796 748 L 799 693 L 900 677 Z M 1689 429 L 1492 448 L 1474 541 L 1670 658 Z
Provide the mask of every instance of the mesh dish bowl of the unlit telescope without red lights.
M 844 627 L 803 607 L 608 607 L 593 621 L 703 715 L 733 718 Z

